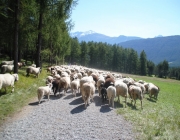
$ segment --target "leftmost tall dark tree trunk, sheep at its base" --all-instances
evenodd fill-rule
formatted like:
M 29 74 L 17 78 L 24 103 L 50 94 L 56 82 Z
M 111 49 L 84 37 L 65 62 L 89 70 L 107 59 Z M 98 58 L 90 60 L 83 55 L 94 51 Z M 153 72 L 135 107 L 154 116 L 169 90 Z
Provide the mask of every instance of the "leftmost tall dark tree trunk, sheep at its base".
M 19 31 L 19 0 L 15 1 L 15 31 L 14 31 L 14 73 L 18 73 L 18 31 Z

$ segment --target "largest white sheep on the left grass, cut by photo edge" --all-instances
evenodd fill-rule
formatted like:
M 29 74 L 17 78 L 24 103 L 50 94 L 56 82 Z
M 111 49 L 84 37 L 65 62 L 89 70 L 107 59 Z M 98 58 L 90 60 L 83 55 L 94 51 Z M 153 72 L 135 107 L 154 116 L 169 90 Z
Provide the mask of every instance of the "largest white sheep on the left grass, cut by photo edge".
M 5 88 L 6 92 L 6 87 L 11 86 L 12 90 L 11 93 L 14 92 L 14 82 L 19 80 L 18 74 L 0 74 L 0 89 Z

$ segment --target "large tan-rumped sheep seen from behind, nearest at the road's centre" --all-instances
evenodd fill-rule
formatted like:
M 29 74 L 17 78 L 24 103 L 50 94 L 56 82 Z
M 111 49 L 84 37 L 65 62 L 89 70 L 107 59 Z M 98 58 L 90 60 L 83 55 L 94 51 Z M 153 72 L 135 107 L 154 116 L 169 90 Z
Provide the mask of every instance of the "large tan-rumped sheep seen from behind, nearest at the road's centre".
M 89 103 L 90 98 L 93 100 L 93 95 L 95 93 L 95 86 L 91 82 L 86 82 L 82 85 L 82 98 L 84 100 L 85 108 Z

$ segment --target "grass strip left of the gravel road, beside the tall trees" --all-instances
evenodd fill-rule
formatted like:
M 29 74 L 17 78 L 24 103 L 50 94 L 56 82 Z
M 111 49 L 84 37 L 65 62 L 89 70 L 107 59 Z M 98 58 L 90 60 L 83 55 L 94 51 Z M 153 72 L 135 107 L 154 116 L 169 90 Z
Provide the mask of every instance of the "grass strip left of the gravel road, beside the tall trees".
M 25 68 L 19 69 L 19 81 L 15 82 L 14 93 L 11 94 L 11 87 L 7 87 L 7 93 L 4 89 L 0 90 L 0 124 L 7 117 L 19 111 L 23 106 L 28 105 L 33 97 L 37 97 L 37 88 L 45 85 L 47 72 L 42 70 L 39 78 L 33 75 L 26 77 Z

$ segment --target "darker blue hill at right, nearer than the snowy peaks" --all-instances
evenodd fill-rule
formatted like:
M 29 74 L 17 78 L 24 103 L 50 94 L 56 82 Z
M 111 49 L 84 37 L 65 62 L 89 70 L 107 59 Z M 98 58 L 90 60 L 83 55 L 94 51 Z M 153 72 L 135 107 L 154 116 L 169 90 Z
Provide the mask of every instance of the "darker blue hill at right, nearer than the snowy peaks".
M 131 40 L 119 45 L 133 48 L 138 54 L 144 50 L 147 59 L 156 64 L 167 60 L 170 66 L 180 66 L 180 35 Z

